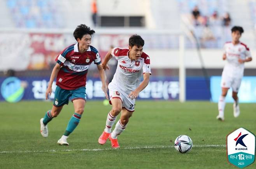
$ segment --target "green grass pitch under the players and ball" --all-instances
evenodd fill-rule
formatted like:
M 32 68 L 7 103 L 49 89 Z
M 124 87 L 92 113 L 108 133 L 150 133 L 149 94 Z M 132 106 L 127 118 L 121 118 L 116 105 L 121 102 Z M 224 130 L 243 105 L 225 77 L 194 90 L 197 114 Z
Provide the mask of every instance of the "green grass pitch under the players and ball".
M 48 124 L 49 136 L 40 135 L 40 118 L 52 102 L 0 102 L 0 168 L 235 168 L 226 157 L 226 135 L 244 127 L 256 133 L 256 104 L 240 104 L 241 114 L 233 117 L 226 104 L 225 121 L 216 120 L 217 104 L 210 102 L 137 101 L 126 130 L 119 136 L 120 148 L 110 141 L 98 144 L 111 106 L 88 100 L 79 126 L 60 146 L 74 113 L 73 104 Z M 182 154 L 173 147 L 179 135 L 188 135 L 194 147 Z M 251 164 L 249 168 L 256 168 Z

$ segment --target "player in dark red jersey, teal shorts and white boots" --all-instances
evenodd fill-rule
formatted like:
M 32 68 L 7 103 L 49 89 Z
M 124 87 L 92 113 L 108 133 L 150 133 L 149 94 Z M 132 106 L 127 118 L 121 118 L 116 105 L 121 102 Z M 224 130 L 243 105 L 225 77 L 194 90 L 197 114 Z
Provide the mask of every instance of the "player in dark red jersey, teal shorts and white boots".
M 51 73 L 49 86 L 46 90 L 46 100 L 48 99 L 48 95 L 51 95 L 55 78 L 57 87 L 52 109 L 46 112 L 44 118 L 40 119 L 40 132 L 42 136 L 48 136 L 48 122 L 60 114 L 63 105 L 68 104 L 69 99 L 72 100 L 75 109 L 63 136 L 57 142 L 60 145 L 68 145 L 67 138 L 79 124 L 84 112 L 84 106 L 86 104 L 86 75 L 92 62 L 97 65 L 102 81 L 102 90 L 108 99 L 105 71 L 100 66 L 100 55 L 98 50 L 90 45 L 91 36 L 94 33 L 94 30 L 84 24 L 77 26 L 73 33 L 77 43 L 70 45 L 60 53 L 56 58 L 57 63 Z

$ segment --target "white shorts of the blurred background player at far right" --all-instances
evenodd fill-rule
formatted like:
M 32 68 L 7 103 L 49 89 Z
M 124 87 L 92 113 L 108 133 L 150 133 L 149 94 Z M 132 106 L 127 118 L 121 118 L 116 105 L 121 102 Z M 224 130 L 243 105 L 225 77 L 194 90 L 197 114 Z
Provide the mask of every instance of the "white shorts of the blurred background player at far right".
M 232 88 L 234 92 L 238 92 L 242 81 L 242 76 L 230 76 L 222 73 L 221 88 Z

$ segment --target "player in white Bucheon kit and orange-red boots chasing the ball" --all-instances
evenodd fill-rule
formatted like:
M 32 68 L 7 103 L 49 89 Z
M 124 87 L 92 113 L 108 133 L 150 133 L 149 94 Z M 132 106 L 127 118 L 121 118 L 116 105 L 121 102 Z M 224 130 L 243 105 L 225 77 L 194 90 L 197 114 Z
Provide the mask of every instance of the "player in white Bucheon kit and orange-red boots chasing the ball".
M 105 144 L 107 139 L 111 141 L 112 148 L 119 148 L 117 136 L 126 128 L 129 118 L 132 116 L 135 100 L 149 83 L 150 59 L 143 52 L 144 40 L 135 34 L 129 38 L 129 49 L 113 48 L 110 50 L 102 63 L 102 68 L 108 69 L 107 62 L 114 57 L 117 61 L 117 69 L 109 83 L 109 97 L 112 109 L 107 115 L 105 129 L 98 139 L 98 143 Z M 143 81 L 140 78 L 143 74 Z M 121 117 L 111 133 L 112 126 L 117 115 Z

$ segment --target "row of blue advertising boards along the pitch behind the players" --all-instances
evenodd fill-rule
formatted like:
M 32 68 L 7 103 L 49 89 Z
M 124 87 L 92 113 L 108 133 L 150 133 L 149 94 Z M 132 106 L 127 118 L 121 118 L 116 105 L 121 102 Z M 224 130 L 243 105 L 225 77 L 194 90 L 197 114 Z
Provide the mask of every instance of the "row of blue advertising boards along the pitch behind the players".
M 210 78 L 187 77 L 186 100 L 207 100 L 217 102 L 221 94 L 220 76 Z M 45 100 L 49 76 L 0 78 L 0 101 L 19 102 L 20 100 Z M 56 83 L 53 83 L 54 99 Z M 88 78 L 86 83 L 87 99 L 104 99 L 99 78 Z M 149 85 L 139 93 L 139 100 L 178 100 L 179 78 L 152 76 Z M 227 102 L 232 102 L 232 93 L 228 92 Z M 256 77 L 244 77 L 238 93 L 240 102 L 256 102 Z

